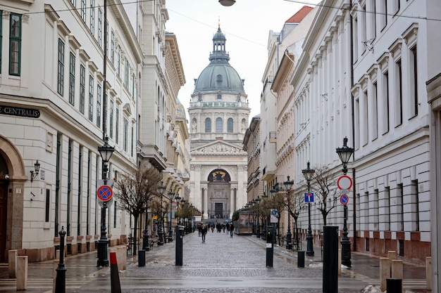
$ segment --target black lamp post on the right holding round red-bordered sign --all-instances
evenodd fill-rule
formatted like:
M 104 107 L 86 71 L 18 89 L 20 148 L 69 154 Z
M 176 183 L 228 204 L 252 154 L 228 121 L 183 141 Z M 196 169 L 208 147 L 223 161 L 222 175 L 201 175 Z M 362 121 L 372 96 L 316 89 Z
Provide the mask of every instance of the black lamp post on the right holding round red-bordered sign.
M 349 148 L 347 146 L 347 137 L 343 138 L 343 146 L 342 148 L 336 148 L 335 152 L 337 152 L 340 160 L 343 164 L 343 174 L 347 174 L 347 163 L 354 153 L 354 148 Z M 349 237 L 347 237 L 347 204 L 343 206 L 343 237 L 340 240 L 340 244 L 342 245 L 342 264 L 347 267 L 351 267 L 351 241 Z

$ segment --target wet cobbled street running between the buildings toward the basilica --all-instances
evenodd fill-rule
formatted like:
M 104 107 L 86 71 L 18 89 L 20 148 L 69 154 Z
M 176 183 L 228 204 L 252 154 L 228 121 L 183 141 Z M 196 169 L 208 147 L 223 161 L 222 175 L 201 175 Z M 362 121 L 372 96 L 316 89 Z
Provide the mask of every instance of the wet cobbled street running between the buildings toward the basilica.
M 275 247 L 273 267 L 266 267 L 266 242 L 256 236 L 230 237 L 208 233 L 206 242 L 198 233 L 183 239 L 182 266 L 175 266 L 175 242 L 146 252 L 146 266 L 129 257 L 120 271 L 122 292 L 322 292 L 321 247 L 306 256 L 305 267 L 297 267 L 297 252 Z M 96 252 L 66 260 L 66 292 L 111 292 L 110 268 L 96 268 Z M 342 269 L 338 292 L 360 292 L 366 285 L 378 285 L 378 258 L 352 254 L 353 268 Z M 39 266 L 39 269 L 37 269 Z M 30 263 L 27 291 L 51 292 L 51 261 Z M 425 287 L 423 268 L 406 266 L 404 287 Z M 3 270 L 4 271 L 4 270 Z M 1 272 L 3 272 L 1 271 Z M 6 276 L 7 277 L 7 276 Z M 15 292 L 15 282 L 0 275 L 0 292 Z M 418 291 L 421 292 L 421 291 Z

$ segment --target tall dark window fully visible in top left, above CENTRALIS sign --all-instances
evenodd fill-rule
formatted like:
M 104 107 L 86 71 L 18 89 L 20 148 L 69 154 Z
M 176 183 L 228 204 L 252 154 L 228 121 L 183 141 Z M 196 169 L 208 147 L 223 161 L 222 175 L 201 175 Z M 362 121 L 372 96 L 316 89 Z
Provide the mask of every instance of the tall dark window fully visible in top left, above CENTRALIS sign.
M 9 32 L 9 74 L 20 75 L 21 62 L 21 15 L 11 13 Z

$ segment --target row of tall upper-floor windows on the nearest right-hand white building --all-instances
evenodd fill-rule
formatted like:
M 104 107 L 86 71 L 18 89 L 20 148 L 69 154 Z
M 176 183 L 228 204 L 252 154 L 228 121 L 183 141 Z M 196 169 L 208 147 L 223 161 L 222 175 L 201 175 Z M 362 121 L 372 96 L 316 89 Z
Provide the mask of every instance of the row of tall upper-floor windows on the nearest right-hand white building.
M 356 148 L 378 138 L 380 131 L 386 134 L 391 124 L 398 127 L 404 119 L 418 115 L 418 54 L 416 34 L 412 35 L 410 39 L 404 34 L 406 45 L 397 41 L 383 54 L 375 70 L 368 72 L 370 84 L 366 79 L 360 81 L 361 91 L 356 93 L 354 105 L 355 131 L 359 134 Z

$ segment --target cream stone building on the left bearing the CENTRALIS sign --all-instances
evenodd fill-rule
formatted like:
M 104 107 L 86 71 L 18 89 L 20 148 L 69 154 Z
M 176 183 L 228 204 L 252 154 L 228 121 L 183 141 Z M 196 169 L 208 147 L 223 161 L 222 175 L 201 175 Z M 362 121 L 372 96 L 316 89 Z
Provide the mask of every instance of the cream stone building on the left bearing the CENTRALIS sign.
M 137 166 L 136 35 L 121 6 L 109 9 L 104 70 L 103 1 L 6 1 L 0 13 L 1 260 L 8 249 L 29 261 L 54 258 L 62 227 L 68 253 L 93 250 L 104 135 L 115 147 L 110 178 Z M 116 202 L 108 208 L 111 245 L 128 233 L 128 219 Z

